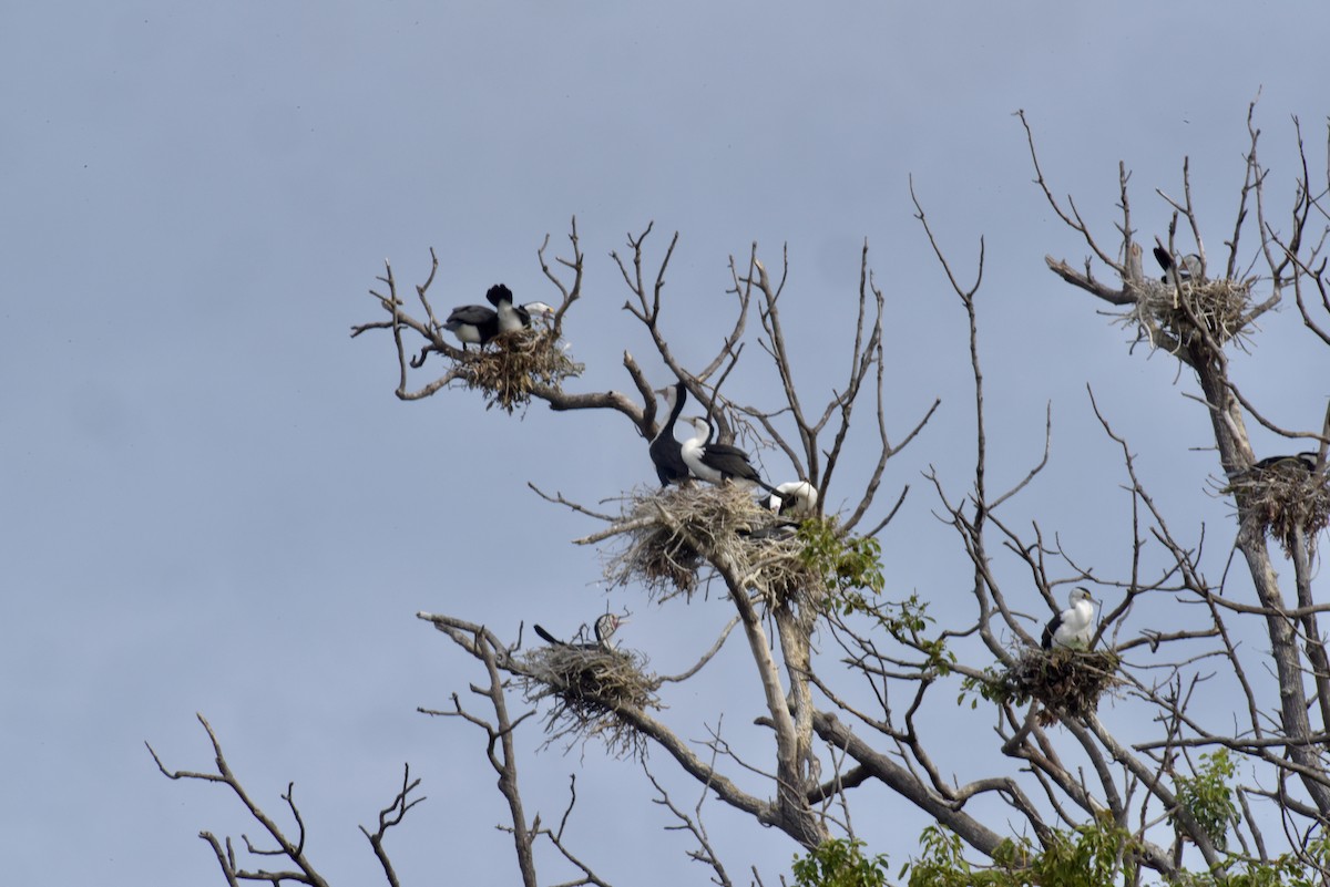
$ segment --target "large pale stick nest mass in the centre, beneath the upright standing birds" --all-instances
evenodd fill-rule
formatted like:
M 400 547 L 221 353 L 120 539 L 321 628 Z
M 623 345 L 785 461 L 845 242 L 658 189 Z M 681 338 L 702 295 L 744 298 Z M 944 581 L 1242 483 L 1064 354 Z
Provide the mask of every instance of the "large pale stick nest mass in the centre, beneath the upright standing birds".
M 697 590 L 702 571 L 729 563 L 769 605 L 821 603 L 821 579 L 799 556 L 795 524 L 735 483 L 669 487 L 634 495 L 620 519 L 624 544 L 605 564 L 612 584 L 640 582 L 654 600 Z

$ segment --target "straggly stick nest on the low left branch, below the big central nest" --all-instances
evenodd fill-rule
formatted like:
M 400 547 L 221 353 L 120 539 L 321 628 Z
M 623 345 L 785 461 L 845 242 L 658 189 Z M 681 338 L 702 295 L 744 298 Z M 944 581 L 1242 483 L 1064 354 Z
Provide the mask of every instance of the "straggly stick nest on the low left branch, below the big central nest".
M 536 647 L 523 667 L 527 700 L 553 698 L 545 714 L 549 742 L 585 742 L 598 738 L 612 754 L 640 757 L 642 736 L 624 724 L 617 710 L 658 709 L 660 683 L 645 673 L 646 657 L 636 652 L 579 648 L 564 644 Z

